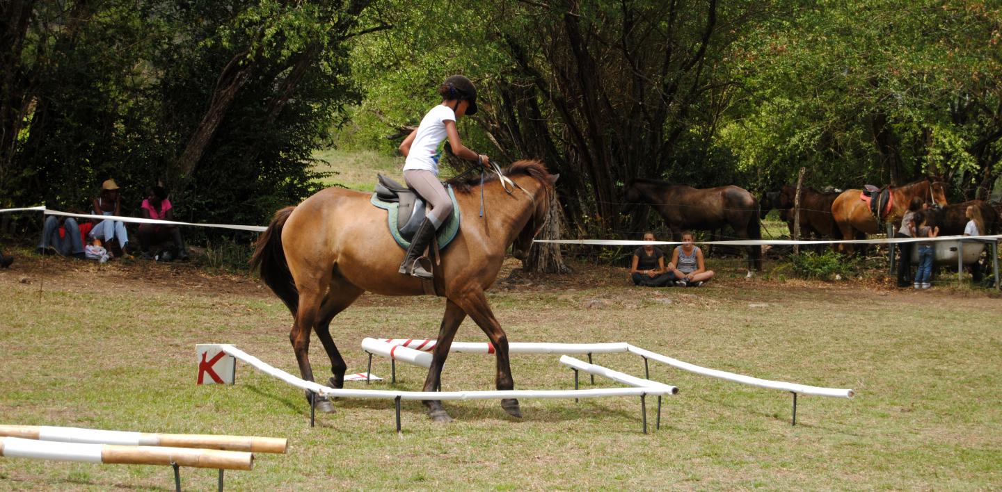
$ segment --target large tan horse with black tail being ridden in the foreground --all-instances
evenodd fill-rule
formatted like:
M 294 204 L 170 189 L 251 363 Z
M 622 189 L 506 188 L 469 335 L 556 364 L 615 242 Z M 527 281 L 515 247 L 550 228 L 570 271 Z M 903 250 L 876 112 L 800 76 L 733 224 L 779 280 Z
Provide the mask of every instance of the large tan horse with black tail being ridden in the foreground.
M 446 298 L 446 308 L 425 391 L 439 388 L 449 347 L 467 316 L 494 346 L 497 389 L 514 388 L 508 339 L 484 290 L 497 279 L 509 245 L 516 258 L 528 254 L 546 220 L 549 193 L 559 175 L 549 174 L 538 161 L 518 161 L 503 174 L 515 186 L 506 186 L 497 175 L 486 179 L 482 188 L 479 177 L 476 186 L 472 180 L 452 183 L 461 226 L 435 267 L 435 283 Z M 328 188 L 299 206 L 280 210 L 258 240 L 252 259 L 254 267 L 261 267 L 262 280 L 293 314 L 289 339 L 303 379 L 314 380 L 309 350 L 310 332 L 315 330 L 331 359 L 335 388 L 344 386 L 347 366 L 331 337 L 331 320 L 366 291 L 393 296 L 425 293 L 420 279 L 397 272 L 404 250 L 390 235 L 387 212 L 373 206 L 370 197 L 371 193 Z M 440 400 L 424 403 L 434 420 L 452 420 Z M 502 400 L 501 406 L 510 415 L 521 415 L 518 400 Z M 317 398 L 317 408 L 334 411 L 322 397 Z

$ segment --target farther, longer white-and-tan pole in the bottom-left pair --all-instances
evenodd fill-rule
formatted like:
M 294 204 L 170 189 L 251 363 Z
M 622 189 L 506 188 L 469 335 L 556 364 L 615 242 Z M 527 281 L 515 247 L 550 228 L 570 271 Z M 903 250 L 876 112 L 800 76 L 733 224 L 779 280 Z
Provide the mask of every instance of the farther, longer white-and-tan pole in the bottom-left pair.
M 255 453 L 285 453 L 289 440 L 278 437 L 212 434 L 156 434 L 146 432 L 54 427 L 48 425 L 2 425 L 0 436 L 88 444 L 204 448 Z

